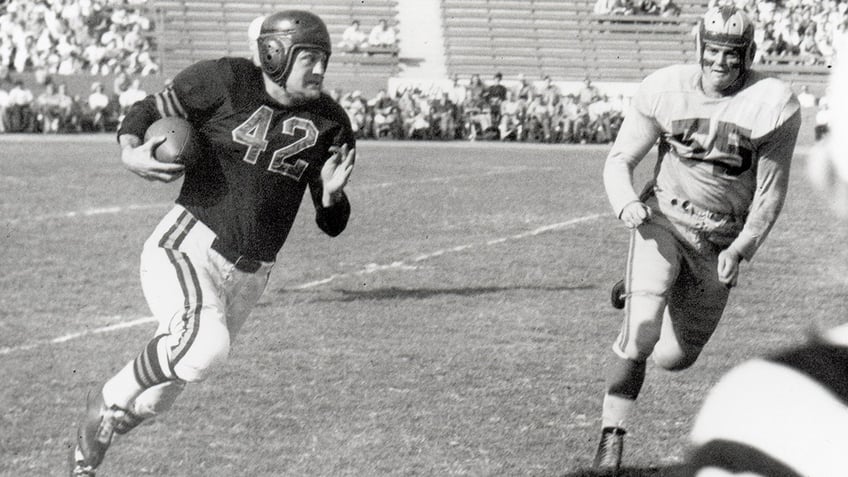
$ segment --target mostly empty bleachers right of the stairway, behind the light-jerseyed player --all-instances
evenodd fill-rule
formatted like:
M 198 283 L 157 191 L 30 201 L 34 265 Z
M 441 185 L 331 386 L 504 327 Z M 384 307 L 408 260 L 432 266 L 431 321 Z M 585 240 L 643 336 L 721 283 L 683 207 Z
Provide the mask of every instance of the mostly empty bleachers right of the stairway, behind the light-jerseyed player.
M 678 0 L 681 15 L 596 15 L 593 0 L 441 0 L 448 73 L 460 76 L 638 81 L 666 65 L 692 61 L 693 30 L 706 0 Z M 820 88 L 826 67 L 757 65 Z

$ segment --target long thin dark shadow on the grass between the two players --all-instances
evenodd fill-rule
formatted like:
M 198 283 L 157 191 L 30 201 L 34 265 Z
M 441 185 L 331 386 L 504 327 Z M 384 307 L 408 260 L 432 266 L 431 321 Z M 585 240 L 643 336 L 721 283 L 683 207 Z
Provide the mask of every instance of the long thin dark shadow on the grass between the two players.
M 510 287 L 459 287 L 459 288 L 375 288 L 369 290 L 330 290 L 329 293 L 333 296 L 315 298 L 312 301 L 316 302 L 333 302 L 333 301 L 354 301 L 354 300 L 405 300 L 414 299 L 422 300 L 432 298 L 434 296 L 455 295 L 462 297 L 472 297 L 487 295 L 491 293 L 501 293 L 506 291 L 544 291 L 544 292 L 562 292 L 575 290 L 591 290 L 597 288 L 594 285 L 580 285 L 574 287 L 566 286 L 510 286 Z M 287 290 L 285 288 L 277 290 L 278 293 L 303 292 L 302 290 Z M 311 293 L 311 292 L 310 292 Z M 326 293 L 326 292 L 325 292 Z

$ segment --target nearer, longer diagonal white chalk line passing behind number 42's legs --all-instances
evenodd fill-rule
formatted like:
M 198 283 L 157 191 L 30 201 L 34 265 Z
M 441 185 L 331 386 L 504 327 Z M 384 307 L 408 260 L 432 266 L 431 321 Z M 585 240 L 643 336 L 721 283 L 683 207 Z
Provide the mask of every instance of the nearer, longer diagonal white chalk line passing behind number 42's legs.
M 566 220 L 565 222 L 558 222 L 558 223 L 555 223 L 555 224 L 549 224 L 549 225 L 544 225 L 542 227 L 537 227 L 533 230 L 528 230 L 526 232 L 522 232 L 522 233 L 519 233 L 519 234 L 509 235 L 509 236 L 506 236 L 506 237 L 498 237 L 498 238 L 487 240 L 485 242 L 478 242 L 478 243 L 474 243 L 474 244 L 457 245 L 455 247 L 444 248 L 444 249 L 441 249 L 441 250 L 436 250 L 434 252 L 416 255 L 415 257 L 405 259 L 405 260 L 396 260 L 394 262 L 385 263 L 385 264 L 369 263 L 359 270 L 355 270 L 355 271 L 352 271 L 352 272 L 345 272 L 345 273 L 336 273 L 336 274 L 330 275 L 327 278 L 323 278 L 321 280 L 315 280 L 315 281 L 303 283 L 301 285 L 297 285 L 295 287 L 289 288 L 289 290 L 307 290 L 307 289 L 310 289 L 310 288 L 315 288 L 315 287 L 320 286 L 320 285 L 324 285 L 326 283 L 330 283 L 330 282 L 337 280 L 339 278 L 369 275 L 369 274 L 381 272 L 381 271 L 384 271 L 384 270 L 415 270 L 416 269 L 415 264 L 426 261 L 426 260 L 430 260 L 430 259 L 433 259 L 433 258 L 441 257 L 442 255 L 445 255 L 445 254 L 458 253 L 458 252 L 462 252 L 462 251 L 469 250 L 469 249 L 472 249 L 472 248 L 489 247 L 489 246 L 492 246 L 492 245 L 498 245 L 498 244 L 502 244 L 502 243 L 505 243 L 505 242 L 513 241 L 513 240 L 521 240 L 521 239 L 524 239 L 524 238 L 535 237 L 537 235 L 540 235 L 540 234 L 543 234 L 543 233 L 546 233 L 546 232 L 552 232 L 552 231 L 555 231 L 555 230 L 564 229 L 566 227 L 576 225 L 576 224 L 580 224 L 580 223 L 583 223 L 583 222 L 590 222 L 592 220 L 599 219 L 599 218 L 603 217 L 604 215 L 606 215 L 606 214 L 597 213 L 597 214 L 584 215 L 583 217 L 578 217 L 578 218 L 575 218 L 575 219 Z M 115 320 L 115 319 L 120 319 L 120 318 L 121 318 L 120 316 L 116 316 L 116 317 L 111 317 L 109 319 Z M 38 347 L 41 347 L 41 346 L 61 344 L 61 343 L 65 343 L 65 342 L 68 342 L 68 341 L 76 340 L 78 338 L 90 336 L 90 335 L 109 333 L 109 332 L 112 332 L 112 331 L 118 331 L 118 330 L 123 330 L 123 329 L 126 329 L 126 328 L 132 328 L 132 327 L 135 327 L 135 326 L 138 326 L 138 325 L 145 325 L 145 324 L 148 324 L 148 323 L 153 323 L 155 321 L 156 321 L 155 318 L 153 318 L 152 316 L 148 316 L 148 317 L 137 318 L 135 320 L 130 320 L 130 321 L 122 322 L 122 323 L 116 323 L 114 325 L 108 325 L 108 326 L 103 326 L 103 327 L 100 327 L 100 328 L 94 328 L 94 329 L 91 329 L 91 330 L 73 332 L 73 333 L 63 335 L 63 336 L 59 336 L 57 338 L 42 340 L 42 341 L 35 341 L 35 342 L 28 343 L 28 344 L 21 345 L 21 346 L 7 346 L 7 347 L 0 348 L 0 356 L 6 356 L 6 355 L 10 355 L 12 353 L 16 353 L 16 352 L 20 352 L 20 351 L 28 351 L 28 350 L 32 350 L 32 349 L 35 349 L 35 348 L 38 348 Z

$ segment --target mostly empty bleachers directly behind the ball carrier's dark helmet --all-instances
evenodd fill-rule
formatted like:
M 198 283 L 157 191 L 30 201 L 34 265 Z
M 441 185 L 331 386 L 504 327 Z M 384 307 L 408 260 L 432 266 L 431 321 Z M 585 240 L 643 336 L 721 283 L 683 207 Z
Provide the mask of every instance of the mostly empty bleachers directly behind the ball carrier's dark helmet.
M 297 8 L 321 16 L 334 45 L 354 19 L 370 30 L 380 19 L 392 21 L 397 16 L 397 0 L 315 0 L 282 5 L 262 0 L 154 0 L 153 7 L 159 58 L 166 76 L 202 59 L 249 56 L 247 27 L 269 12 Z M 327 86 L 367 89 L 375 82 L 385 84 L 397 71 L 397 55 L 335 52 Z

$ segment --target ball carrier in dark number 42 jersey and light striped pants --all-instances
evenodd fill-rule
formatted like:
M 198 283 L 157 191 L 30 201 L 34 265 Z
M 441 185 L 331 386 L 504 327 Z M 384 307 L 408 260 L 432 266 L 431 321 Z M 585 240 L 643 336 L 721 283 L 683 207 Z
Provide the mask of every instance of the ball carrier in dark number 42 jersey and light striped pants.
M 330 35 L 316 15 L 269 15 L 248 58 L 201 61 L 136 103 L 118 130 L 121 160 L 150 180 L 185 175 L 179 197 L 144 245 L 141 282 L 159 325 L 150 342 L 89 393 L 71 474 L 92 476 L 114 434 L 167 410 L 187 383 L 227 358 L 309 189 L 318 227 L 347 225 L 355 141 L 347 115 L 322 92 Z M 157 162 L 163 116 L 198 131 L 204 153 L 184 167 Z

